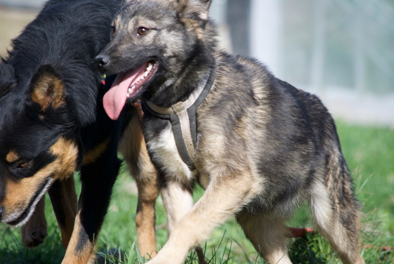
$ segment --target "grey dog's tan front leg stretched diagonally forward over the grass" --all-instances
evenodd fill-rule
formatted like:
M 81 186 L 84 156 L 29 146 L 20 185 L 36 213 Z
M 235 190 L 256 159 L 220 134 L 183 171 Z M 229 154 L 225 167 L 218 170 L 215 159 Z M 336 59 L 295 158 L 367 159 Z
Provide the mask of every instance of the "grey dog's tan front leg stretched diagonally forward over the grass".
M 204 195 L 180 219 L 163 249 L 149 264 L 183 263 L 189 250 L 238 212 L 261 188 L 260 181 L 253 180 L 249 173 L 211 178 Z

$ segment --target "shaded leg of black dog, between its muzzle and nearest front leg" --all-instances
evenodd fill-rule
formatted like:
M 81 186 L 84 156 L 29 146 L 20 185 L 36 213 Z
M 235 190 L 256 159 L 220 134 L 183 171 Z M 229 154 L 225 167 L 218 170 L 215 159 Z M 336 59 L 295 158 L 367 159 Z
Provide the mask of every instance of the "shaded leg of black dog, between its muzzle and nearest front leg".
M 71 174 L 64 180 L 57 180 L 49 189 L 52 207 L 62 234 L 62 244 L 66 249 L 74 229 L 77 213 L 77 195 L 75 193 L 74 176 Z

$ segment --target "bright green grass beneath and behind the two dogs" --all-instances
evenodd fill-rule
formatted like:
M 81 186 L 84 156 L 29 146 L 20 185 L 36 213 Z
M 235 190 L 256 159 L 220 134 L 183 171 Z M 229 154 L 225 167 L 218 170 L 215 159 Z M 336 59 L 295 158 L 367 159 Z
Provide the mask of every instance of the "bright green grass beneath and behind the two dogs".
M 394 263 L 394 252 L 383 251 L 383 246 L 394 246 L 394 131 L 337 124 L 342 150 L 352 171 L 357 196 L 360 199 L 363 220 L 361 239 L 365 263 Z M 79 187 L 78 187 L 79 188 Z M 195 198 L 202 195 L 197 189 Z M 144 263 L 136 248 L 135 212 L 136 190 L 127 171 L 122 171 L 115 184 L 109 211 L 99 235 L 99 251 L 120 248 L 129 259 L 126 264 Z M 48 237 L 36 249 L 25 249 L 20 242 L 20 229 L 0 225 L 0 263 L 35 264 L 60 263 L 64 250 L 49 198 L 46 215 Z M 162 200 L 156 204 L 157 244 L 162 247 L 167 239 L 166 215 Z M 311 226 L 306 206 L 289 221 L 295 227 Z M 203 245 L 207 260 L 212 264 L 263 264 L 242 230 L 230 220 L 216 229 Z M 293 239 L 290 256 L 294 263 L 340 263 L 327 241 L 319 234 Z M 197 263 L 190 253 L 187 263 Z M 113 263 L 110 257 L 106 263 Z

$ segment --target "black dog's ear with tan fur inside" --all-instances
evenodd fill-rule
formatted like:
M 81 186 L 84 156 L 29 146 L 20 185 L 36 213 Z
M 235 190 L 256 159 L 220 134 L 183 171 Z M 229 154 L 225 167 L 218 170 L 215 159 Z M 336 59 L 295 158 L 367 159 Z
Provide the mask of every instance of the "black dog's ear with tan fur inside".
M 66 104 L 62 78 L 49 64 L 41 65 L 33 76 L 30 92 L 32 100 L 45 111 L 49 106 L 57 109 Z

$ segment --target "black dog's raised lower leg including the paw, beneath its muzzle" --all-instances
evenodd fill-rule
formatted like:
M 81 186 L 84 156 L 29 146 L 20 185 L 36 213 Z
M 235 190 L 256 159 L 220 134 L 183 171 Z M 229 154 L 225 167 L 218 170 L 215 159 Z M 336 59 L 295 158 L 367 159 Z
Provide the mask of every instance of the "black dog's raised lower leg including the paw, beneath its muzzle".
M 45 219 L 45 196 L 37 205 L 29 221 L 22 227 L 22 243 L 27 248 L 33 248 L 44 242 L 47 236 L 47 223 Z

